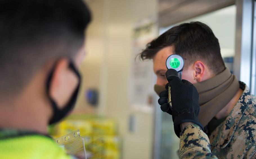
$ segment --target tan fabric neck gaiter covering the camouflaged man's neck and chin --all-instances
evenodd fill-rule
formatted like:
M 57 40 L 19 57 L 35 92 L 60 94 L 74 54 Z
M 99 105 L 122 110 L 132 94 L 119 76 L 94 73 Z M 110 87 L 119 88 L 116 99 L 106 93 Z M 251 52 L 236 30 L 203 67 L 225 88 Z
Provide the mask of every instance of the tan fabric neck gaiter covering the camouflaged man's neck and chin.
M 239 82 L 228 68 L 213 78 L 195 83 L 194 86 L 199 93 L 200 112 L 198 118 L 203 127 L 230 102 L 239 90 Z M 154 90 L 159 95 L 161 91 L 165 90 L 165 87 L 155 85 Z

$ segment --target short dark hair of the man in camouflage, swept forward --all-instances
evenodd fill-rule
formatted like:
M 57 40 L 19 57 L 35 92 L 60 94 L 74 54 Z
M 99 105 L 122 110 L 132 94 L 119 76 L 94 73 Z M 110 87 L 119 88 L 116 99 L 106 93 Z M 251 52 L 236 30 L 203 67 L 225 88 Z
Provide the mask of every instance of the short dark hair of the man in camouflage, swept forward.
M 143 60 L 152 59 L 158 51 L 168 46 L 174 46 L 174 52 L 184 58 L 184 67 L 202 60 L 214 74 L 225 69 L 219 41 L 206 24 L 190 22 L 174 26 L 148 43 L 140 57 Z

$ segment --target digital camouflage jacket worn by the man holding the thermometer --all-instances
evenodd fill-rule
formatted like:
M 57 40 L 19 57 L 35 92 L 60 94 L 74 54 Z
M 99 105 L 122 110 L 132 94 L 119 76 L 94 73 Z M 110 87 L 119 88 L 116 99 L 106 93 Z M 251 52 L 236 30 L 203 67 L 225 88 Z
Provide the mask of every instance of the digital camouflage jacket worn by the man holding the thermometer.
M 180 158 L 256 158 L 256 100 L 244 92 L 226 120 L 208 137 L 196 124 L 180 134 Z

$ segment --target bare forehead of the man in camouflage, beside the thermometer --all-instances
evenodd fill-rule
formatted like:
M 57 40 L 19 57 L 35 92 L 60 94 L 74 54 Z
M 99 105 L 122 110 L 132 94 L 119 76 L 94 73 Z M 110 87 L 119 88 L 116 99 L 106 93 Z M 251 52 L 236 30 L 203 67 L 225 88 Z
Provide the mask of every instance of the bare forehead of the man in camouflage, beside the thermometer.
M 172 54 L 174 54 L 173 46 L 165 47 L 156 53 L 156 55 L 153 57 L 155 73 L 161 69 L 166 69 L 166 59 Z

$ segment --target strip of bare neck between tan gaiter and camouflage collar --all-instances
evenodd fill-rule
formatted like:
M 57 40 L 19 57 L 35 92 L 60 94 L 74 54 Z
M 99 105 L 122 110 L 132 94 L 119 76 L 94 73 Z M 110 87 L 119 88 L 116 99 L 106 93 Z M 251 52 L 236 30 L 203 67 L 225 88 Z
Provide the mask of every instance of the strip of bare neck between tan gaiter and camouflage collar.
M 215 115 L 215 118 L 222 119 L 227 117 L 228 114 L 230 114 L 230 112 L 232 111 L 237 101 L 240 99 L 243 92 L 244 91 L 241 88 L 239 88 L 239 90 L 234 95 L 234 97 L 230 100 L 230 102 L 228 102 L 228 104 L 224 108 L 222 108 L 221 111 L 219 111 L 219 113 Z

